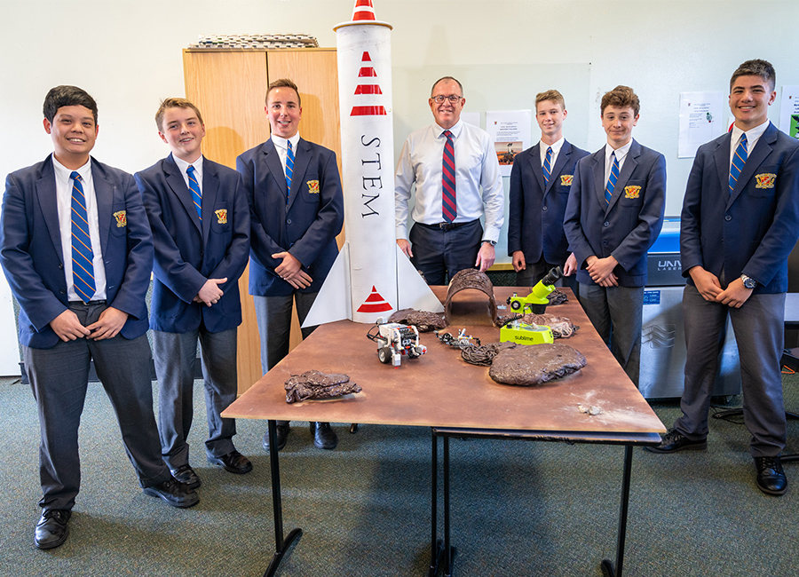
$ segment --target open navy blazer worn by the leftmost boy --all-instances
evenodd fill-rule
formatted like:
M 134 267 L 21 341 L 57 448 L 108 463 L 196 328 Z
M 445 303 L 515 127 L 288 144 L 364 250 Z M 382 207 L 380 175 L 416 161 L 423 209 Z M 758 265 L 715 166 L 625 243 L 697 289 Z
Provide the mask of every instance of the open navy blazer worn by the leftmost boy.
M 153 268 L 150 226 L 130 174 L 92 158 L 91 179 L 106 269 L 106 300 L 128 313 L 120 334 L 136 338 L 147 331 L 145 296 Z M 50 321 L 67 310 L 68 302 L 52 155 L 5 179 L 0 264 L 20 303 L 20 343 L 34 349 L 58 344 Z

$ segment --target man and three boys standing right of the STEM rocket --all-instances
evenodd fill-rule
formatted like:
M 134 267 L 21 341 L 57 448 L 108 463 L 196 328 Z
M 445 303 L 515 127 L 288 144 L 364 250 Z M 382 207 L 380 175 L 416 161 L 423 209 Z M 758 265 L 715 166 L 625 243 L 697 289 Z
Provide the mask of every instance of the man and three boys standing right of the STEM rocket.
M 646 448 L 707 447 L 729 317 L 755 482 L 763 493 L 781 495 L 787 478 L 779 458 L 786 445 L 780 360 L 787 257 L 799 237 L 799 141 L 769 122 L 775 86 L 769 62 L 742 63 L 730 80 L 731 130 L 696 154 L 680 230 L 687 279 L 683 415 L 660 445 Z M 431 283 L 472 266 L 487 270 L 503 222 L 494 146 L 485 130 L 460 120 L 465 103 L 455 78 L 434 83 L 435 123 L 412 133 L 399 154 L 397 243 Z M 508 255 L 518 286 L 561 266 L 597 333 L 637 384 L 646 257 L 663 222 L 666 161 L 632 138 L 640 110 L 632 89 L 606 92 L 600 110 L 607 142 L 589 154 L 563 137 L 563 96 L 552 90 L 536 96 L 541 139 L 515 157 L 510 172 Z M 415 224 L 408 233 L 412 185 Z

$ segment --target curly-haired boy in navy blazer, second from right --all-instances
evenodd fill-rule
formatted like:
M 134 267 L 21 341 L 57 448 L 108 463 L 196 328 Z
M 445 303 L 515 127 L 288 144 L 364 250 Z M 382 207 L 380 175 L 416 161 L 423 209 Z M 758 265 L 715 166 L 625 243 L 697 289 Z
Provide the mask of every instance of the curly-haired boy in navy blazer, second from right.
M 632 138 L 639 109 L 629 86 L 602 97 L 607 144 L 577 162 L 564 222 L 580 304 L 636 386 L 646 252 L 661 232 L 666 196 L 666 159 Z

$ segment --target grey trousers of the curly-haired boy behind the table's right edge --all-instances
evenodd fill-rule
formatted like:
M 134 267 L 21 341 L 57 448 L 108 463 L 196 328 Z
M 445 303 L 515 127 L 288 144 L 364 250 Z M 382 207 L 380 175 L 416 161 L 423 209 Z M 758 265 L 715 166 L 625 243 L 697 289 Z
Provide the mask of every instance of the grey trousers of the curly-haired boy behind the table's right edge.
M 644 287 L 600 287 L 580 283 L 577 296 L 613 357 L 638 386 Z

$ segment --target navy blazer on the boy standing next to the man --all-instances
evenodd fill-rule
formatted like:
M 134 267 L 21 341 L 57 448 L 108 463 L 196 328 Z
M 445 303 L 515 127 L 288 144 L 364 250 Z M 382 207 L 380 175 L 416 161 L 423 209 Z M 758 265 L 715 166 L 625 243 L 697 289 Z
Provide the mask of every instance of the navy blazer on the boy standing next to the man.
M 544 184 L 541 142 L 517 155 L 510 170 L 510 216 L 508 256 L 521 250 L 532 265 L 541 257 L 548 263 L 563 264 L 569 257 L 569 243 L 563 217 L 574 166 L 588 152 L 564 141 L 552 167 L 550 184 Z

